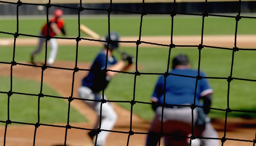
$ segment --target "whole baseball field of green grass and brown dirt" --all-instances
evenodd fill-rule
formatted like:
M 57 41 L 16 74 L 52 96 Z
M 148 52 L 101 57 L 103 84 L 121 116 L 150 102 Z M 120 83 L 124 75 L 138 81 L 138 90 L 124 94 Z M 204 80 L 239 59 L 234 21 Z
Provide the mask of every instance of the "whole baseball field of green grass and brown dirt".
M 235 14 L 234 14 L 235 15 Z M 76 16 L 64 17 L 67 30 L 67 38 L 76 38 L 78 32 L 78 19 Z M 1 32 L 15 33 L 17 31 L 16 18 L 4 19 L 1 24 Z M 203 31 L 203 45 L 220 48 L 204 47 L 200 52 L 200 70 L 210 78 L 209 82 L 214 89 L 212 110 L 209 116 L 212 118 L 213 126 L 219 133 L 219 138 L 226 135 L 225 146 L 253 145 L 256 132 L 256 98 L 254 87 L 256 85 L 256 30 L 255 19 L 242 18 L 237 28 L 237 47 L 246 48 L 234 52 L 232 62 L 232 48 L 235 40 L 235 18 L 205 17 Z M 45 23 L 43 17 L 26 18 L 20 17 L 18 29 L 20 34 L 38 35 L 41 26 Z M 86 25 L 98 34 L 104 36 L 108 31 L 107 16 L 81 17 L 80 23 Z M 140 35 L 141 17 L 137 15 L 113 16 L 110 19 L 110 30 L 120 34 L 122 41 L 137 41 Z M 198 45 L 201 43 L 202 17 L 175 16 L 173 23 L 173 44 L 175 45 Z M 141 41 L 169 45 L 171 43 L 171 17 L 150 16 L 143 17 L 141 27 Z M 59 36 L 64 37 L 64 36 Z M 82 38 L 89 38 L 81 32 Z M 33 144 L 34 126 L 22 123 L 38 122 L 38 96 L 41 89 L 41 68 L 26 65 L 15 65 L 10 78 L 11 65 L 6 62 L 29 63 L 30 53 L 35 49 L 37 38 L 19 35 L 16 39 L 14 52 L 13 35 L 0 33 L 0 142 L 3 143 L 5 132 L 5 121 L 10 116 L 11 121 L 21 122 L 8 125 L 6 133 L 6 145 L 26 146 Z M 77 88 L 86 71 L 75 73 L 74 86 L 72 88 L 73 69 L 76 60 L 76 41 L 70 39 L 59 39 L 59 49 L 54 67 L 44 71 L 42 93 L 45 96 L 40 99 L 40 123 L 65 126 L 69 120 L 70 125 L 75 127 L 68 129 L 67 144 L 72 146 L 92 145 L 86 136 L 86 130 L 94 125 L 95 114 L 79 100 L 71 102 L 70 117 L 68 119 L 68 102 L 64 97 L 77 98 Z M 102 44 L 94 41 L 80 41 L 77 50 L 77 67 L 89 69 L 91 61 L 101 49 Z M 168 46 L 151 44 L 140 44 L 138 52 L 136 43 L 120 43 L 120 50 L 138 55 L 137 63 L 134 63 L 129 73 L 119 73 L 113 78 L 105 95 L 113 101 L 118 121 L 111 132 L 107 146 L 127 145 L 128 132 L 130 131 L 130 111 L 133 98 L 137 102 L 132 106 L 132 131 L 147 132 L 154 113 L 151 109 L 150 97 L 158 75 L 152 73 L 164 73 L 167 71 Z M 138 54 L 137 54 L 138 53 Z M 179 53 L 189 56 L 192 68 L 198 69 L 199 49 L 197 47 L 175 47 L 171 49 L 171 58 Z M 114 54 L 118 59 L 120 55 Z M 44 62 L 45 53 L 41 52 L 36 60 Z M 134 84 L 134 73 L 136 68 L 141 73 L 136 76 Z M 149 74 L 147 74 L 149 73 Z M 227 78 L 231 75 L 233 80 L 228 86 Z M 11 84 L 12 81 L 12 84 Z M 11 86 L 12 85 L 12 86 Z M 135 88 L 134 88 L 135 87 Z M 10 97 L 8 104 L 7 92 L 15 92 Z M 129 102 L 127 102 L 129 101 Z M 228 113 L 227 127 L 225 131 L 225 110 Z M 10 111 L 8 111 L 8 108 Z M 123 131 L 120 133 L 118 131 Z M 224 132 L 225 131 L 225 132 Z M 125 133 L 126 132 L 126 133 Z M 118 137 L 118 138 L 117 138 Z M 145 143 L 145 134 L 134 134 L 129 139 L 129 145 L 141 146 Z M 65 139 L 65 128 L 53 126 L 40 126 L 38 128 L 36 145 L 52 146 L 63 144 Z M 234 141 L 238 139 L 242 141 Z M 221 143 L 221 142 L 220 142 Z

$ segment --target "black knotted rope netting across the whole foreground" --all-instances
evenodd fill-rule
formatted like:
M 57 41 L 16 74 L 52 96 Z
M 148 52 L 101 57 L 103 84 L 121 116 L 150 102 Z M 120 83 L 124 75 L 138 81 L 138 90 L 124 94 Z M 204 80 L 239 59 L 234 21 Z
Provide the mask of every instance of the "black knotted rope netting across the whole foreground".
M 248 50 L 248 51 L 252 51 L 255 49 L 251 49 L 251 48 L 238 48 L 237 47 L 237 28 L 238 28 L 238 24 L 239 24 L 239 20 L 242 18 L 249 18 L 249 19 L 256 19 L 256 17 L 251 17 L 251 16 L 241 16 L 241 0 L 239 0 L 239 10 L 238 10 L 238 14 L 236 16 L 229 16 L 229 15 L 218 15 L 218 14 L 208 14 L 208 10 L 207 10 L 207 0 L 205 0 L 204 2 L 204 12 L 202 14 L 191 14 L 191 13 L 178 13 L 175 11 L 175 0 L 174 0 L 174 5 L 173 5 L 173 11 L 171 13 L 147 13 L 144 10 L 144 0 L 142 0 L 142 12 L 133 12 L 133 11 L 124 11 L 124 10 L 118 10 L 118 9 L 113 9 L 112 8 L 112 0 L 110 0 L 110 7 L 109 9 L 91 9 L 91 8 L 84 8 L 82 6 L 82 0 L 80 0 L 80 7 L 79 8 L 74 8 L 74 7 L 69 7 L 69 6 L 62 6 L 62 5 L 56 5 L 56 4 L 52 4 L 51 0 L 48 1 L 47 4 L 35 4 L 35 3 L 24 3 L 21 0 L 18 0 L 17 2 L 6 2 L 6 1 L 0 1 L 0 3 L 2 4 L 15 4 L 17 6 L 17 26 L 16 26 L 16 32 L 15 33 L 10 33 L 10 32 L 3 32 L 0 31 L 0 33 L 2 34 L 9 34 L 9 35 L 13 35 L 14 36 L 14 44 L 13 44 L 13 58 L 11 62 L 0 62 L 1 64 L 11 64 L 10 67 L 10 91 L 9 92 L 4 92 L 4 91 L 0 91 L 0 93 L 3 94 L 7 94 L 8 95 L 8 118 L 6 121 L 0 121 L 2 123 L 5 123 L 5 132 L 4 132 L 4 140 L 3 140 L 3 145 L 5 146 L 6 143 L 6 132 L 8 131 L 8 127 L 9 125 L 11 125 L 11 123 L 17 123 L 17 124 L 21 124 L 21 125 L 34 125 L 35 129 L 34 129 L 34 137 L 33 137 L 33 146 L 35 145 L 35 140 L 36 140 L 36 135 L 37 135 L 37 129 L 39 126 L 49 126 L 49 127 L 59 127 L 59 128 L 65 128 L 66 132 L 65 132 L 65 140 L 63 141 L 64 145 L 66 146 L 67 143 L 67 134 L 68 134 L 68 130 L 71 128 L 74 129 L 81 129 L 81 130 L 96 130 L 97 133 L 99 133 L 100 131 L 110 131 L 110 132 L 115 132 L 115 133 L 125 133 L 128 134 L 127 137 L 127 146 L 129 145 L 129 141 L 130 141 L 130 136 L 134 135 L 134 134 L 148 134 L 145 132 L 134 132 L 132 130 L 132 115 L 133 115 L 133 105 L 136 103 L 142 103 L 142 104 L 148 104 L 150 105 L 150 102 L 142 102 L 142 101 L 137 101 L 136 100 L 136 96 L 135 96 L 135 89 L 136 89 L 136 79 L 137 76 L 140 75 L 164 75 L 165 77 L 165 85 L 166 85 L 166 78 L 169 75 L 175 75 L 175 76 L 184 76 L 184 77 L 189 77 L 189 78 L 195 78 L 196 79 L 196 84 L 198 83 L 198 81 L 202 78 L 208 78 L 208 79 L 225 79 L 228 82 L 228 89 L 227 89 L 227 108 L 226 109 L 220 109 L 220 108 L 213 108 L 211 107 L 211 110 L 218 110 L 218 111 L 224 111 L 225 112 L 225 127 L 224 127 L 224 135 L 221 138 L 211 138 L 211 137 L 196 137 L 193 133 L 194 128 L 192 126 L 191 128 L 191 136 L 187 137 L 190 138 L 190 145 L 191 145 L 191 139 L 195 139 L 195 138 L 201 138 L 201 139 L 217 139 L 221 141 L 222 146 L 224 145 L 225 141 L 230 140 L 230 141 L 243 141 L 243 142 L 251 142 L 253 146 L 255 146 L 256 143 L 256 133 L 255 133 L 255 139 L 254 140 L 243 140 L 243 139 L 234 139 L 234 138 L 227 138 L 226 137 L 226 129 L 227 129 L 227 115 L 230 112 L 244 112 L 244 113 L 256 113 L 256 111 L 244 111 L 244 110 L 233 110 L 230 109 L 229 107 L 229 92 L 230 92 L 230 83 L 232 80 L 242 80 L 242 81 L 250 81 L 250 82 L 256 82 L 256 80 L 254 79 L 246 79 L 246 78 L 236 78 L 236 77 L 232 77 L 232 72 L 233 72 L 233 62 L 234 62 L 234 54 L 236 52 L 238 52 L 239 50 Z M 56 7 L 56 8 L 65 8 L 65 9 L 73 9 L 77 11 L 77 15 L 78 15 L 78 36 L 77 38 L 66 38 L 66 37 L 51 37 L 49 36 L 49 30 L 47 26 L 47 36 L 43 37 L 43 36 L 37 36 L 37 35 L 29 35 L 29 34 L 22 34 L 19 33 L 19 6 L 21 5 L 42 5 L 46 7 L 46 15 L 47 15 L 47 24 L 48 24 L 48 15 L 49 15 L 49 8 L 50 7 Z M 88 100 L 88 99 L 81 99 L 81 98 L 76 98 L 73 97 L 73 89 L 74 89 L 74 78 L 75 78 L 75 74 L 78 71 L 89 71 L 89 69 L 80 69 L 77 67 L 77 55 L 78 55 L 78 49 L 79 49 L 79 42 L 81 40 L 88 40 L 88 41 L 97 41 L 97 42 L 106 42 L 106 41 L 102 41 L 102 40 L 95 40 L 95 39 L 88 39 L 88 38 L 82 38 L 81 34 L 80 34 L 80 13 L 84 10 L 97 10 L 97 11 L 106 11 L 108 13 L 108 34 L 110 37 L 110 17 L 111 17 L 111 12 L 116 11 L 116 12 L 124 12 L 124 13 L 131 13 L 131 14 L 140 14 L 141 15 L 141 19 L 140 19 L 140 28 L 139 28 L 139 38 L 137 41 L 118 41 L 120 43 L 134 43 L 136 44 L 136 71 L 135 72 L 123 72 L 123 71 L 115 71 L 115 70 L 108 70 L 106 69 L 107 67 L 107 59 L 106 59 L 106 66 L 105 69 L 103 69 L 103 72 L 107 72 L 107 71 L 112 71 L 112 72 L 119 72 L 119 73 L 126 73 L 126 74 L 132 74 L 134 75 L 134 84 L 133 84 L 133 99 L 131 101 L 115 101 L 115 100 L 105 100 L 104 99 L 104 90 L 103 90 L 103 99 L 102 100 Z M 143 23 L 143 17 L 147 14 L 169 14 L 171 17 L 171 39 L 170 39 L 170 44 L 158 44 L 158 43 L 152 43 L 152 42 L 145 42 L 145 41 L 141 41 L 141 32 L 142 32 L 142 23 Z M 202 17 L 202 29 L 201 29 L 201 43 L 199 45 L 176 45 L 173 44 L 173 21 L 174 21 L 174 17 L 176 15 L 190 15 L 190 16 L 201 16 Z M 208 45 L 203 45 L 203 36 L 204 36 L 204 18 L 208 17 L 208 16 L 215 16 L 215 17 L 226 17 L 226 18 L 234 18 L 236 20 L 236 29 L 235 29 L 235 34 L 234 34 L 234 47 L 233 48 L 227 48 L 227 47 L 218 47 L 218 46 L 208 46 Z M 34 38 L 45 38 L 45 59 L 44 59 L 44 65 L 32 65 L 32 64 L 25 64 L 25 63 L 18 63 L 15 61 L 15 48 L 16 48 L 16 39 L 19 36 L 29 36 L 29 37 L 34 37 Z M 75 67 L 72 68 L 60 68 L 60 67 L 49 67 L 46 66 L 46 60 L 47 60 L 47 41 L 51 38 L 55 38 L 55 39 L 68 39 L 68 40 L 75 40 L 76 41 L 76 57 L 75 57 Z M 106 42 L 109 45 L 109 42 Z M 165 73 L 146 73 L 146 72 L 139 72 L 138 71 L 138 50 L 139 50 L 139 46 L 140 44 L 151 44 L 151 45 L 158 45 L 158 46 L 165 46 L 165 47 L 169 47 L 169 54 L 168 54 L 168 65 L 167 65 L 167 70 Z M 169 72 L 169 65 L 170 65 L 170 56 L 171 56 L 171 50 L 175 47 L 197 47 L 198 48 L 198 54 L 199 54 L 199 58 L 198 58 L 198 75 L 197 76 L 185 76 L 185 75 L 179 75 L 179 74 L 172 74 L 172 73 L 168 73 Z M 199 74 L 200 71 L 200 61 L 201 61 L 201 49 L 204 47 L 208 47 L 208 48 L 213 48 L 213 49 L 226 49 L 226 50 L 230 50 L 232 51 L 232 62 L 231 62 L 231 67 L 230 67 L 230 75 L 228 77 L 202 77 Z M 108 48 L 108 47 L 107 47 Z M 107 55 L 108 56 L 108 55 Z M 13 81 L 13 67 L 15 65 L 26 65 L 26 66 L 30 66 L 30 67 L 37 67 L 37 68 L 41 68 L 42 72 L 41 72 L 41 86 L 40 86 L 40 93 L 39 94 L 30 94 L 30 93 L 22 93 L 22 92 L 13 92 L 12 91 L 12 81 Z M 47 95 L 47 94 L 43 94 L 42 93 L 42 89 L 43 89 L 43 76 L 44 76 L 44 71 L 47 68 L 53 68 L 53 69 L 60 69 L 60 70 L 70 70 L 73 71 L 73 76 L 72 76 L 72 89 L 71 89 L 71 94 L 70 97 L 58 97 L 58 96 L 52 96 L 52 95 Z M 197 88 L 197 86 L 196 86 Z M 161 117 L 161 135 L 171 135 L 171 136 L 176 136 L 179 137 L 180 135 L 173 135 L 173 134 L 168 134 L 168 133 L 162 133 L 162 123 L 163 123 L 163 107 L 171 105 L 171 106 L 189 106 L 191 107 L 191 114 L 192 117 L 194 116 L 194 109 L 196 107 L 202 108 L 202 106 L 198 106 L 195 105 L 195 101 L 196 101 L 196 88 L 195 88 L 195 96 L 194 96 L 194 104 L 189 106 L 189 105 L 175 105 L 175 104 L 166 104 L 163 103 L 162 105 L 162 117 Z M 164 89 L 166 90 L 166 88 Z M 38 121 L 36 123 L 26 123 L 26 122 L 18 122 L 18 121 L 11 121 L 10 120 L 10 97 L 13 94 L 21 94 L 21 95 L 26 95 L 26 96 L 33 96 L 33 97 L 38 97 Z M 40 122 L 40 99 L 43 97 L 51 97 L 51 98 L 59 98 L 59 99 L 66 99 L 68 100 L 68 118 L 67 118 L 67 125 L 66 126 L 59 126 L 59 125 L 51 125 L 51 124 L 45 124 L 45 123 L 41 123 Z M 165 99 L 165 94 L 164 94 L 164 99 Z M 71 126 L 69 123 L 69 118 L 70 118 L 70 104 L 73 100 L 88 100 L 88 101 L 95 101 L 95 102 L 101 102 L 101 110 L 102 110 L 102 104 L 106 103 L 106 102 L 112 102 L 112 103 L 130 103 L 131 104 L 131 110 L 130 110 L 130 128 L 129 131 L 114 131 L 114 130 L 105 130 L 105 129 L 101 129 L 101 120 L 100 120 L 100 126 L 98 129 L 88 129 L 88 128 L 81 128 L 81 127 L 74 127 Z M 165 100 L 164 100 L 165 101 Z M 100 114 L 100 119 L 101 119 L 101 114 Z M 192 123 L 191 125 L 194 124 L 194 118 L 192 118 Z M 98 134 L 97 134 L 98 135 Z M 97 136 L 96 136 L 96 141 L 97 141 Z M 159 141 L 159 146 L 160 146 L 161 141 Z M 96 144 L 95 144 L 96 145 Z

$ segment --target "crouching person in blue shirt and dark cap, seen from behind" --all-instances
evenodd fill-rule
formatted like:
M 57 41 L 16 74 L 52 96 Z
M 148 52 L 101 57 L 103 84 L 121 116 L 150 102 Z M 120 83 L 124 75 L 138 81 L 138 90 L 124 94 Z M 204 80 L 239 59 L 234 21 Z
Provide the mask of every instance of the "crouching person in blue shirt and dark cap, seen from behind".
M 191 133 L 192 118 L 194 119 L 194 123 L 196 123 L 195 121 L 198 121 L 197 124 L 200 124 L 200 126 L 205 125 L 205 129 L 201 134 L 202 137 L 217 138 L 218 134 L 212 127 L 211 123 L 209 121 L 204 122 L 201 120 L 201 115 L 207 117 L 206 114 L 209 113 L 211 105 L 211 95 L 213 90 L 211 89 L 208 80 L 206 78 L 198 80 L 195 104 L 201 105 L 200 99 L 202 99 L 204 102 L 203 111 L 201 111 L 201 108 L 195 108 L 194 117 L 192 117 L 190 106 L 194 104 L 196 78 L 187 76 L 197 76 L 198 71 L 190 69 L 188 57 L 180 54 L 172 60 L 172 71 L 169 73 L 174 75 L 166 76 L 166 82 L 164 75 L 161 75 L 158 78 L 153 96 L 151 97 L 152 108 L 155 111 L 155 118 L 151 123 L 151 127 L 147 135 L 146 146 L 157 145 L 162 136 L 159 134 L 161 133 L 161 126 L 162 133 L 183 136 L 174 137 L 168 135 L 165 138 L 165 145 L 188 146 L 189 141 L 187 142 L 184 136 L 188 136 Z M 203 72 L 200 72 L 200 76 L 204 77 L 205 75 Z M 166 103 L 167 105 L 163 108 L 163 123 L 161 125 L 163 103 Z M 200 121 L 197 119 L 200 119 Z M 207 118 L 204 118 L 203 120 L 205 119 Z M 213 139 L 202 139 L 201 142 L 203 143 L 203 146 L 218 145 L 218 141 Z M 193 145 L 193 141 L 191 145 Z

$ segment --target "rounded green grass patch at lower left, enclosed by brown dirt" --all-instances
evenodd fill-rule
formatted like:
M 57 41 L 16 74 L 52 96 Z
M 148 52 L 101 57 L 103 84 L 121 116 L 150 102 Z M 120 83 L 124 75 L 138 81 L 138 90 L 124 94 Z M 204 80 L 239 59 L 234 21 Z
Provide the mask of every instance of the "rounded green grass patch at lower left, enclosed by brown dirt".
M 10 77 L 0 76 L 0 91 L 10 90 Z M 20 78 L 13 78 L 12 91 L 19 93 L 40 93 L 40 83 Z M 59 96 L 47 84 L 43 84 L 43 93 Z M 22 94 L 12 94 L 10 97 L 10 120 L 16 122 L 38 122 L 38 97 Z M 8 119 L 8 95 L 0 93 L 0 120 Z M 68 119 L 68 102 L 64 99 L 43 97 L 40 98 L 40 123 L 65 123 Z M 70 107 L 70 122 L 85 122 L 87 119 Z M 4 125 L 4 123 L 0 123 Z

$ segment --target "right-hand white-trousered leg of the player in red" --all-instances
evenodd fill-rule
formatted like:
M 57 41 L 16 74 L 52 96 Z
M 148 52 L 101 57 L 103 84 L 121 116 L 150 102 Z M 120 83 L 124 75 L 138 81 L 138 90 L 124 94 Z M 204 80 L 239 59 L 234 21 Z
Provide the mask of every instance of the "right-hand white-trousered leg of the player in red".
M 49 52 L 49 57 L 47 60 L 47 65 L 51 66 L 54 63 L 54 60 L 56 59 L 57 52 L 58 52 L 58 43 L 56 39 L 50 39 L 49 40 L 49 45 L 51 47 L 50 52 Z

